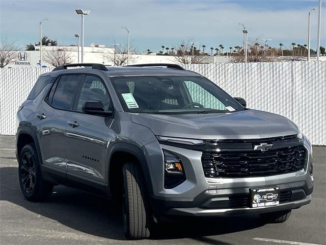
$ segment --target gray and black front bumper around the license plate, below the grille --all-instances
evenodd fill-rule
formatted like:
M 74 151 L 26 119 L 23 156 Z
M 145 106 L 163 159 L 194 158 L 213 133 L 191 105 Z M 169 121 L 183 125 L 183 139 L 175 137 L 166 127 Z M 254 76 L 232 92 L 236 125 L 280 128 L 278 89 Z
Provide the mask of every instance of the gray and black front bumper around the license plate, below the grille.
M 155 144 L 153 142 L 153 144 Z M 201 152 L 160 145 L 176 154 L 182 161 L 186 181 L 173 189 L 164 188 L 163 164 L 151 165 L 154 193 L 151 202 L 155 216 L 226 216 L 239 213 L 266 213 L 300 208 L 311 201 L 313 177 L 309 173 L 311 145 L 307 140 L 307 164 L 296 172 L 267 177 L 205 178 L 201 164 Z M 157 149 L 157 145 L 152 145 Z M 156 156 L 159 154 L 157 153 Z M 157 162 L 157 161 L 156 161 Z M 277 206 L 250 208 L 250 189 L 279 187 L 280 204 Z

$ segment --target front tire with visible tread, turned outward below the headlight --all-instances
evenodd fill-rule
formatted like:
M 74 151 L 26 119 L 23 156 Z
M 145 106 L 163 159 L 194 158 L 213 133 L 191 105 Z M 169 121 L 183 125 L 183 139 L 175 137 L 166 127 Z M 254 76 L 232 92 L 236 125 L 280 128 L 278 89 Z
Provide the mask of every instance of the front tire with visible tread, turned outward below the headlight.
M 125 163 L 122 167 L 123 227 L 128 239 L 144 239 L 150 235 L 150 211 L 143 172 L 137 163 Z

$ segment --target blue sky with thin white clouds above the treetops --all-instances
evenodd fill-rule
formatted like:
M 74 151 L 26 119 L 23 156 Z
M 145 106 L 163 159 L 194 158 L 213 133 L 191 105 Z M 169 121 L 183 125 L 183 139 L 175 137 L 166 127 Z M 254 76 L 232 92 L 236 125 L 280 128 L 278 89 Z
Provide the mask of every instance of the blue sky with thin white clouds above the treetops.
M 1 37 L 20 47 L 43 34 L 61 45 L 75 44 L 80 34 L 80 16 L 74 9 L 91 10 L 85 17 L 85 45 L 112 46 L 126 43 L 126 31 L 139 52 L 149 48 L 158 52 L 161 45 L 175 46 L 192 38 L 206 47 L 242 45 L 239 22 L 249 30 L 249 40 L 273 39 L 271 45 L 307 43 L 308 12 L 318 0 L 0 0 Z M 326 5 L 323 1 L 321 45 L 326 45 Z M 316 48 L 317 11 L 311 17 L 311 46 Z

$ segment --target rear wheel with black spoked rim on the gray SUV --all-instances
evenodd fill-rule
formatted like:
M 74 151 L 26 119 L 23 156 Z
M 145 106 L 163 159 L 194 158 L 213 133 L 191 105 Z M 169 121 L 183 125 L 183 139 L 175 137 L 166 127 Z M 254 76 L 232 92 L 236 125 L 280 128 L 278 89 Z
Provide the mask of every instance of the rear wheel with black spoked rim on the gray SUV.
M 24 197 L 31 202 L 48 199 L 53 185 L 42 179 L 40 162 L 32 144 L 26 144 L 20 152 L 18 176 L 21 191 Z

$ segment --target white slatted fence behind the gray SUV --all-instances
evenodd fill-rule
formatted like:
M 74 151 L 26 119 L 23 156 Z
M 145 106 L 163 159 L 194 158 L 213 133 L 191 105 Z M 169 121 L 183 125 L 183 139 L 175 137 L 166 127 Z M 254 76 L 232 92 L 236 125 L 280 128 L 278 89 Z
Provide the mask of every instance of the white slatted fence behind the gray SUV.
M 312 144 L 326 145 L 326 62 L 188 64 L 249 108 L 283 115 Z M 41 73 L 52 68 L 0 69 L 0 134 L 15 134 L 15 114 Z

